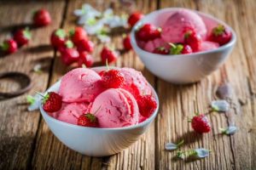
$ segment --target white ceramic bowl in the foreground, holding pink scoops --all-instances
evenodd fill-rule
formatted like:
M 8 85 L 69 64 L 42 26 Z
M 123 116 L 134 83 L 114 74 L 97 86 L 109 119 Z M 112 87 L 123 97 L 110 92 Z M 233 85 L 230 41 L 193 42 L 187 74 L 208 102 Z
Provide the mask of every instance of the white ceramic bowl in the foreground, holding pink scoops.
M 96 67 L 97 71 L 106 67 Z M 56 82 L 47 92 L 58 92 L 61 82 Z M 152 87 L 151 87 L 152 88 Z M 129 147 L 145 133 L 151 122 L 154 121 L 159 109 L 159 99 L 152 88 L 154 98 L 157 101 L 157 109 L 146 121 L 135 126 L 118 128 L 80 127 L 61 122 L 49 116 L 40 105 L 40 111 L 49 129 L 68 148 L 78 151 L 86 156 L 110 156 Z

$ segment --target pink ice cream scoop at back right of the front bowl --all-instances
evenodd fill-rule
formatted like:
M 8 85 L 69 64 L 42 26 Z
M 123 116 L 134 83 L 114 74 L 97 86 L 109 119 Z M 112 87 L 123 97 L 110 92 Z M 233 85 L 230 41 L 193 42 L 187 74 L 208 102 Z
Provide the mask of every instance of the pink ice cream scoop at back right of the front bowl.
M 134 94 L 134 88 L 137 88 L 139 94 L 152 94 L 150 85 L 145 77 L 143 77 L 142 72 L 136 71 L 131 68 L 121 68 L 119 70 L 125 76 L 125 90 Z

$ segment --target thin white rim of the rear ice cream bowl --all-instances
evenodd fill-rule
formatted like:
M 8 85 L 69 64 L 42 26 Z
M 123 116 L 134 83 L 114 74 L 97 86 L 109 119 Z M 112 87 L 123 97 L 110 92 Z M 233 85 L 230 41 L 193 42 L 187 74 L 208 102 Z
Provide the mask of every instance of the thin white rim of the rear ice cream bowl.
M 232 33 L 232 37 L 231 37 L 231 40 L 230 42 L 218 47 L 218 48 L 215 48 L 215 49 L 210 49 L 210 50 L 207 50 L 207 51 L 201 51 L 201 52 L 195 52 L 195 53 L 192 53 L 192 54 L 154 54 L 154 53 L 150 53 L 146 50 L 144 50 L 143 48 L 140 48 L 138 45 L 137 45 L 137 40 L 135 38 L 135 32 L 137 31 L 137 28 L 142 26 L 144 20 L 154 14 L 157 14 L 157 13 L 160 13 L 160 12 L 166 12 L 166 11 L 174 11 L 174 10 L 179 10 L 179 9 L 188 9 L 188 10 L 191 10 L 191 11 L 194 11 L 196 14 L 199 14 L 199 15 L 202 15 L 206 18 L 209 18 L 211 20 L 215 20 L 217 21 L 218 23 L 228 27 L 228 29 L 231 31 Z M 161 8 L 159 10 L 155 10 L 149 14 L 146 14 L 142 20 L 139 20 L 135 26 L 132 27 L 131 29 L 131 46 L 138 51 L 138 53 L 144 53 L 144 54 L 151 54 L 151 55 L 155 55 L 155 56 L 160 56 L 162 58 L 174 58 L 174 57 L 180 57 L 180 56 L 195 56 L 195 55 L 198 55 L 198 54 L 211 54 L 211 53 L 216 53 L 216 52 L 220 52 L 220 51 L 223 51 L 225 48 L 231 48 L 234 44 L 236 43 L 236 32 L 232 29 L 231 26 L 227 25 L 224 21 L 222 20 L 218 20 L 217 18 L 213 17 L 212 14 L 206 14 L 206 13 L 202 13 L 198 10 L 195 10 L 195 9 L 191 9 L 191 8 Z M 139 55 L 140 57 L 140 55 Z

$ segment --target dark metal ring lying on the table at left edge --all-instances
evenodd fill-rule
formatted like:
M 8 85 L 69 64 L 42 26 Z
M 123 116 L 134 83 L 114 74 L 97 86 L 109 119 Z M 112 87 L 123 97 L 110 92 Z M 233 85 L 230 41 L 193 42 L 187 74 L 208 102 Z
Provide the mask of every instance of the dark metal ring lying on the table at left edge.
M 14 72 L 0 73 L 0 80 L 3 78 L 11 78 L 16 80 L 17 82 L 20 83 L 21 88 L 15 92 L 9 92 L 9 93 L 0 92 L 1 99 L 19 96 L 21 94 L 26 93 L 26 91 L 32 88 L 31 78 L 22 72 L 14 71 Z

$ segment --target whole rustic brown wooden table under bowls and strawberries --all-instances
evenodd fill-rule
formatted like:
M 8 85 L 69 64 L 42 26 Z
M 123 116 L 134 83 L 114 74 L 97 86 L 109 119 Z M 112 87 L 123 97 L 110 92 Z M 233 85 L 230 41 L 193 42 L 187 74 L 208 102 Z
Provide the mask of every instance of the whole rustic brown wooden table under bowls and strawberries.
M 0 3 L 0 40 L 9 37 L 13 26 L 29 24 L 32 10 L 47 8 L 52 16 L 50 26 L 33 29 L 30 44 L 19 52 L 0 59 L 0 72 L 22 71 L 32 77 L 32 90 L 44 91 L 70 70 L 61 64 L 59 54 L 49 47 L 49 35 L 55 28 L 68 30 L 75 26 L 73 10 L 83 1 L 32 1 Z M 108 8 L 111 1 L 87 1 L 95 8 Z M 114 3 L 114 10 L 122 13 L 122 5 Z M 256 169 L 256 1 L 255 0 L 166 0 L 137 1 L 137 9 L 147 14 L 158 8 L 184 7 L 198 9 L 226 21 L 237 34 L 236 48 L 218 71 L 201 82 L 173 85 L 154 77 L 134 52 L 122 54 L 117 66 L 143 71 L 157 90 L 160 111 L 143 138 L 129 149 L 114 156 L 89 157 L 69 150 L 49 131 L 39 111 L 26 111 L 26 94 L 0 101 L 0 169 Z M 96 39 L 94 39 L 96 42 Z M 113 36 L 117 48 L 122 48 L 122 36 Z M 99 59 L 102 44 L 96 45 L 94 57 Z M 44 72 L 32 71 L 34 65 L 44 65 Z M 181 65 L 182 66 L 182 65 Z M 222 82 L 230 82 L 235 89 L 234 107 L 228 114 L 210 113 L 212 132 L 193 133 L 187 118 L 196 111 L 207 113 L 214 99 L 215 89 Z M 17 86 L 1 82 L 1 91 Z M 219 135 L 218 127 L 235 122 L 239 127 L 233 136 Z M 181 150 L 204 147 L 212 150 L 209 157 L 199 161 L 175 159 L 177 151 L 166 151 L 166 142 L 185 140 Z

